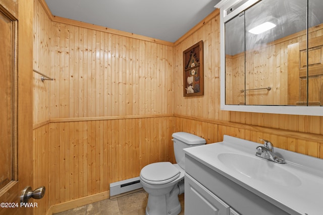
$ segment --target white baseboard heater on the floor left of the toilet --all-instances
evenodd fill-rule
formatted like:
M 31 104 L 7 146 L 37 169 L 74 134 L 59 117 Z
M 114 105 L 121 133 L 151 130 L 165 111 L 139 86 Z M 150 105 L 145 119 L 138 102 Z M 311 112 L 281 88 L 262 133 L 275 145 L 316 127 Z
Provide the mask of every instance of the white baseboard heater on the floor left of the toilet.
M 142 188 L 140 177 L 130 178 L 110 184 L 110 196 Z

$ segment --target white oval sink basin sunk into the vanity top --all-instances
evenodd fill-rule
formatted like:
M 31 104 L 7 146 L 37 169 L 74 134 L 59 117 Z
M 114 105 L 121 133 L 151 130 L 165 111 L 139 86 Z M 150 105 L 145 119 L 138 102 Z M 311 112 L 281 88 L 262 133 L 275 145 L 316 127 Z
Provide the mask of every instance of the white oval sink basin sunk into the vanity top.
M 302 184 L 296 175 L 284 169 L 284 164 L 237 153 L 221 153 L 218 155 L 218 159 L 231 170 L 266 184 L 280 186 L 300 186 Z

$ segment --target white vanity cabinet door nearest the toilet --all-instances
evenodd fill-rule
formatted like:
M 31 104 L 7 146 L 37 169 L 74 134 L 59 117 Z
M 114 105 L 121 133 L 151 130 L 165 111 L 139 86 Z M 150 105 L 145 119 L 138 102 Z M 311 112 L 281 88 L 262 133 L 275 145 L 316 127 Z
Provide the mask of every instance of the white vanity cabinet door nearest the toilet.
M 229 215 L 230 206 L 185 174 L 185 215 Z

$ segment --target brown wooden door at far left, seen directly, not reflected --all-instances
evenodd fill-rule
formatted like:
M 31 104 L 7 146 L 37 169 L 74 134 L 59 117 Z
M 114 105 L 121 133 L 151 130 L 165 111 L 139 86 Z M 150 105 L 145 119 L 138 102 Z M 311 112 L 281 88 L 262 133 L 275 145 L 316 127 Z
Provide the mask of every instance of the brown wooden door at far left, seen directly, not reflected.
M 32 0 L 0 0 L 0 214 L 33 212 L 20 204 L 33 178 L 32 17 Z

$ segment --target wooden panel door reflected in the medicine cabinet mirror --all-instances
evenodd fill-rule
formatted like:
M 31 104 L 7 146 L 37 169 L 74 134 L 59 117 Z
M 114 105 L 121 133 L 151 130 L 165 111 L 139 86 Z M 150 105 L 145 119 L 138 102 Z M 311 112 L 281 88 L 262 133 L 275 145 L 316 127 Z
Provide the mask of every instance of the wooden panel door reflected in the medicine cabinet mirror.
M 308 41 L 308 52 L 306 41 L 288 46 L 288 104 L 307 105 L 307 100 L 309 106 L 323 105 L 323 36 Z

